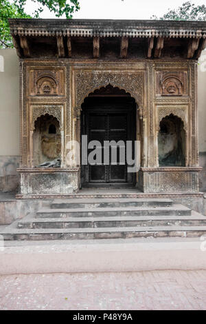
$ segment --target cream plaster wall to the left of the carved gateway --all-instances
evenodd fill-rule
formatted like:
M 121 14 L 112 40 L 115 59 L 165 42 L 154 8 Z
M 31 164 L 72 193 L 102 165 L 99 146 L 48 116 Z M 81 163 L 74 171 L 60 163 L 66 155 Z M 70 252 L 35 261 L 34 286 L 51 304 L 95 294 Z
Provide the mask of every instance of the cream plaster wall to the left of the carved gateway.
M 0 50 L 0 156 L 19 155 L 19 58 Z

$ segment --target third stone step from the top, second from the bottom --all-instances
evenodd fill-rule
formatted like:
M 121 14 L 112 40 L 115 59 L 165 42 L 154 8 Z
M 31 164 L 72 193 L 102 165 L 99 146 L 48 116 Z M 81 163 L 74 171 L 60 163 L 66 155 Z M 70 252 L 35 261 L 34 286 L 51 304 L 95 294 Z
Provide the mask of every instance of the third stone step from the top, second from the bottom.
M 27 218 L 18 222 L 19 228 L 86 228 L 86 227 L 150 227 L 203 226 L 206 216 L 115 216 L 67 217 L 60 219 Z

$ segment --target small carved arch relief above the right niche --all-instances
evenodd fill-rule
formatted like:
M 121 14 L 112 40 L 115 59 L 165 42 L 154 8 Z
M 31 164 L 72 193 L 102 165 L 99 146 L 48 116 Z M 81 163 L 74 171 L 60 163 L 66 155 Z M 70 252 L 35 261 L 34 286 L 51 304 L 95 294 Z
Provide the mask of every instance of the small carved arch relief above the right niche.
M 183 83 L 175 76 L 166 77 L 161 83 L 163 96 L 182 96 Z

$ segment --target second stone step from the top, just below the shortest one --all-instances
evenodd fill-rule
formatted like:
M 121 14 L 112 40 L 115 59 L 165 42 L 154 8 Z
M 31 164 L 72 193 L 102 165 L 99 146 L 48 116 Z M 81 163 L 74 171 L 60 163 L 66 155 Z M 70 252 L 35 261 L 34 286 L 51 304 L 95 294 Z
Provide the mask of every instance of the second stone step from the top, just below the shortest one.
M 96 208 L 42 208 L 36 218 L 89 217 L 89 216 L 190 216 L 191 210 L 183 205 L 170 207 L 96 207 Z

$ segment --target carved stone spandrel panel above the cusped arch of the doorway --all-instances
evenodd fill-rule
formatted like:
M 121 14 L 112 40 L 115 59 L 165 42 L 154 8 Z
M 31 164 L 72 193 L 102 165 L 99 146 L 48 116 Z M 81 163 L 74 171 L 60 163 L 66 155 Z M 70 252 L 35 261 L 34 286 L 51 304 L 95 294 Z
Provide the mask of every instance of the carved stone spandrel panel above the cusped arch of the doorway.
M 91 92 L 112 85 L 128 92 L 138 106 L 143 105 L 144 72 L 137 71 L 78 71 L 76 72 L 76 113 Z

